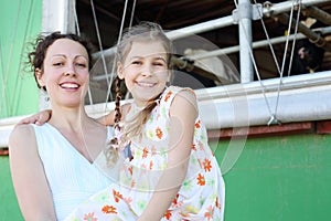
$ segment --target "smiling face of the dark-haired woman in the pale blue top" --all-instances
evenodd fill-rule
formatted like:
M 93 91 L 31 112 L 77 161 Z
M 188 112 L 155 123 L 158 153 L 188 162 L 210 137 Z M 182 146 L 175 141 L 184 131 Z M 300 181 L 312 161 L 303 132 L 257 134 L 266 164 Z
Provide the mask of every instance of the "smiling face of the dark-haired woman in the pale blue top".
M 58 39 L 49 46 L 43 70 L 35 75 L 46 87 L 52 106 L 79 106 L 89 83 L 87 51 L 76 41 Z

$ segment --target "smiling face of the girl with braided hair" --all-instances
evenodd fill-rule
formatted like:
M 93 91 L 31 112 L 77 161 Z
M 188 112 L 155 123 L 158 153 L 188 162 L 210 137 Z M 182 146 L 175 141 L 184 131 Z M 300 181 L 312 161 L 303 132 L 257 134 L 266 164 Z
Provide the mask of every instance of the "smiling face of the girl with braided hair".
M 124 78 L 138 106 L 158 96 L 170 80 L 167 51 L 161 42 L 132 42 L 124 63 L 118 63 L 118 76 Z

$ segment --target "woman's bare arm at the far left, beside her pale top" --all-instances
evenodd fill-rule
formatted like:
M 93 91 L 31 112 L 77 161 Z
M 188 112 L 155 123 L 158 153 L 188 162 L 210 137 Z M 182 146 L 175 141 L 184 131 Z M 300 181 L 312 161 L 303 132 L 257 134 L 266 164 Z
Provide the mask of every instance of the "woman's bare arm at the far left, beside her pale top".
M 28 145 L 31 147 L 26 148 Z M 34 130 L 30 125 L 18 125 L 12 130 L 9 160 L 24 220 L 56 220 L 52 193 L 38 154 Z

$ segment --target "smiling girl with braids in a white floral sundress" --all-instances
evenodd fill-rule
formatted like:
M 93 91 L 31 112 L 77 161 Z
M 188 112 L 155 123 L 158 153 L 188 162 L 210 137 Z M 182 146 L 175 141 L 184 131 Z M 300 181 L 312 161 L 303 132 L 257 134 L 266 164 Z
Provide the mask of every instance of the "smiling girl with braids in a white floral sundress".
M 118 94 L 115 112 L 99 119 L 117 130 L 104 161 L 119 175 L 109 175 L 116 185 L 83 202 L 67 220 L 223 220 L 224 181 L 194 92 L 167 86 L 171 52 L 158 24 L 142 23 L 124 35 L 117 85 L 125 81 L 134 99 L 120 106 Z M 119 155 L 125 148 L 131 157 Z

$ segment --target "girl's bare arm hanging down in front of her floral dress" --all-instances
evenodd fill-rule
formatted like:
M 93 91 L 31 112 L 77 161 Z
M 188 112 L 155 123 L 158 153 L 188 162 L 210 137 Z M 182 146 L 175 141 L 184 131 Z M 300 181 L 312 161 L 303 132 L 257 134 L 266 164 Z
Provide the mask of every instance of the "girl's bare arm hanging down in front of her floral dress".
M 193 93 L 180 92 L 170 107 L 168 168 L 139 220 L 160 220 L 185 179 L 191 154 L 197 105 Z

